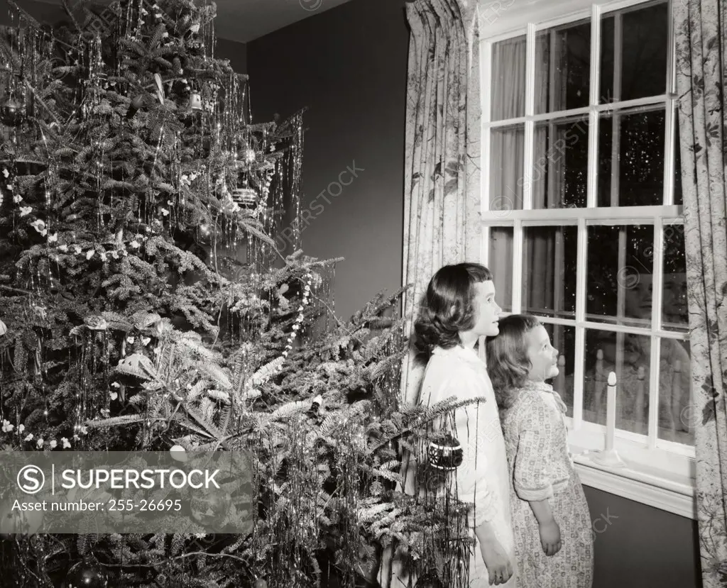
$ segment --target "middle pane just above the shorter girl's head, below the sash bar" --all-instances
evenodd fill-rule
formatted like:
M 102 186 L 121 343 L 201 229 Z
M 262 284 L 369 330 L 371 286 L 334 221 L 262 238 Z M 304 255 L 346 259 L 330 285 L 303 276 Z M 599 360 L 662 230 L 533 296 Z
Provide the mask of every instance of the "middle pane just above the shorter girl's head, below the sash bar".
M 575 318 L 577 251 L 577 226 L 523 229 L 524 312 Z

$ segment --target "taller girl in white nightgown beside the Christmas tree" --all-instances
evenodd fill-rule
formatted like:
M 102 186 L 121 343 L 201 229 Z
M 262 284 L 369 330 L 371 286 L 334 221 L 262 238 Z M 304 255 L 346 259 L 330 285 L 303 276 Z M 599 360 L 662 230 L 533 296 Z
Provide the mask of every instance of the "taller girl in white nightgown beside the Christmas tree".
M 462 446 L 462 465 L 449 474 L 457 498 L 472 505 L 470 528 L 475 549 L 470 554 L 469 586 L 516 586 L 510 523 L 507 457 L 499 413 L 486 365 L 475 351 L 478 338 L 497 335 L 500 308 L 490 271 L 479 264 L 444 266 L 430 280 L 415 324 L 417 347 L 429 355 L 419 404 L 431 406 L 449 398 L 485 397 L 454 412 L 452 433 Z M 407 494 L 417 487 L 417 465 L 406 472 Z M 394 558 L 392 587 L 416 584 Z

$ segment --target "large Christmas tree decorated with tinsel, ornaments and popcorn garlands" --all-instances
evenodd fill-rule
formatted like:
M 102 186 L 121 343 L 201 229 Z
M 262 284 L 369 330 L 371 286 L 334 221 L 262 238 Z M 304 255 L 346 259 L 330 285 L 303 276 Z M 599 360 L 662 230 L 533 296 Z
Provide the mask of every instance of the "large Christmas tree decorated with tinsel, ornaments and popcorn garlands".
M 10 4 L 0 441 L 245 449 L 259 505 L 246 535 L 70 536 L 21 534 L 0 502 L 10 585 L 288 588 L 334 570 L 353 587 L 393 539 L 460 585 L 462 505 L 395 489 L 401 449 L 458 406 L 398 406 L 401 293 L 342 322 L 337 260 L 276 249 L 300 202 L 302 113 L 250 121 L 246 77 L 214 57 L 214 4 L 65 2 L 54 28 Z

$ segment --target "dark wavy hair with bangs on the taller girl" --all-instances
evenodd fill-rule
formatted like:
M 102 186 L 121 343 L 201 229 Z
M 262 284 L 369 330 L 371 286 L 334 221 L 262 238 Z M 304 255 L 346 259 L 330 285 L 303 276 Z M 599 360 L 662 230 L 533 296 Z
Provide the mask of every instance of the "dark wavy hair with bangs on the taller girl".
M 492 279 L 492 272 L 480 264 L 443 266 L 430 279 L 427 293 L 414 322 L 417 350 L 431 354 L 433 348 L 459 345 L 459 331 L 475 324 L 475 284 Z

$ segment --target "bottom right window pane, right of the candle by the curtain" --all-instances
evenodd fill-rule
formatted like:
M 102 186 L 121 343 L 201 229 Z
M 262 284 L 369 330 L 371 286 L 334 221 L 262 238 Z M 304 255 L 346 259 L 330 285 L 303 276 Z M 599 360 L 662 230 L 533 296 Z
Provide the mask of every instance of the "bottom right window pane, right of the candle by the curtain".
M 694 404 L 689 342 L 662 339 L 659 349 L 659 438 L 694 445 L 702 407 Z

